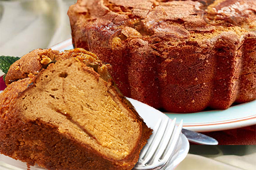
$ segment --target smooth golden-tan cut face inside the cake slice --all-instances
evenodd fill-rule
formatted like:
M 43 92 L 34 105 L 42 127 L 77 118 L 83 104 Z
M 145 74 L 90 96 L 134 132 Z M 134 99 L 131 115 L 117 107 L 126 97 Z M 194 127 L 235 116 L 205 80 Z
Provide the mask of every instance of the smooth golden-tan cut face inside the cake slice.
M 141 125 L 117 104 L 93 68 L 73 57 L 51 63 L 16 102 L 26 120 L 58 127 L 79 143 L 114 159 L 124 159 L 136 146 Z

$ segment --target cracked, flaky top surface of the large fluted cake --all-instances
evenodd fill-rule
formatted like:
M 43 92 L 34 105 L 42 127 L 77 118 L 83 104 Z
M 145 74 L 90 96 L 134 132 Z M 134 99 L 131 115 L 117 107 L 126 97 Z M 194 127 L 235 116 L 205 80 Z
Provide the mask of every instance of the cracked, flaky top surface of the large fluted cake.
M 219 31 L 256 31 L 255 0 L 78 0 L 70 23 L 103 32 L 122 30 L 125 38 L 210 36 Z M 121 38 L 122 39 L 122 38 Z

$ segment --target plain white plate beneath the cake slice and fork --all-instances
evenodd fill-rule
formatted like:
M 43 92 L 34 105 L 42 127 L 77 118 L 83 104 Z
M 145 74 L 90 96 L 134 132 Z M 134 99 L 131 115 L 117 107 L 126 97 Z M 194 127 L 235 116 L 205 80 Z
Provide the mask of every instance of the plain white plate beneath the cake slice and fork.
M 144 103 L 138 102 L 134 99 L 128 99 L 132 105 L 136 108 L 139 115 L 143 118 L 144 122 L 148 127 L 156 131 L 157 122 L 159 119 L 169 119 L 168 116 L 157 111 L 156 109 L 145 105 Z M 169 160 L 169 165 L 166 170 L 174 170 L 175 167 L 186 157 L 189 152 L 189 141 L 181 133 L 178 139 L 177 147 L 175 147 L 175 155 Z M 26 163 L 12 159 L 8 156 L 0 154 L 0 170 L 27 170 Z M 45 170 L 44 168 L 38 167 L 37 165 L 30 167 L 30 170 Z

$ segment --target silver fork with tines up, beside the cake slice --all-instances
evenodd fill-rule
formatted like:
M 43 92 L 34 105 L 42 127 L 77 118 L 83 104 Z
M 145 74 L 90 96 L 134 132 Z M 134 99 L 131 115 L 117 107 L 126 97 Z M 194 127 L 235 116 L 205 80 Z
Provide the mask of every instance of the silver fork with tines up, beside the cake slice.
M 140 152 L 140 158 L 133 170 L 160 170 L 169 164 L 170 158 L 175 154 L 175 146 L 181 135 L 182 120 L 175 126 L 176 118 L 160 119 L 156 130 L 148 139 L 148 143 Z

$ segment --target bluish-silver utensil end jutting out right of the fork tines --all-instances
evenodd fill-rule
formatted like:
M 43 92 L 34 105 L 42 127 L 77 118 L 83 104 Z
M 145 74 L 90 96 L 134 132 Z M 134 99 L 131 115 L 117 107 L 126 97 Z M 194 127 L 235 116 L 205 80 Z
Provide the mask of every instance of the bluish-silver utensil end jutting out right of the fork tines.
M 194 132 L 187 129 L 182 129 L 181 132 L 186 136 L 189 142 L 197 144 L 208 144 L 217 145 L 218 141 L 210 136 L 204 135 L 202 133 Z

